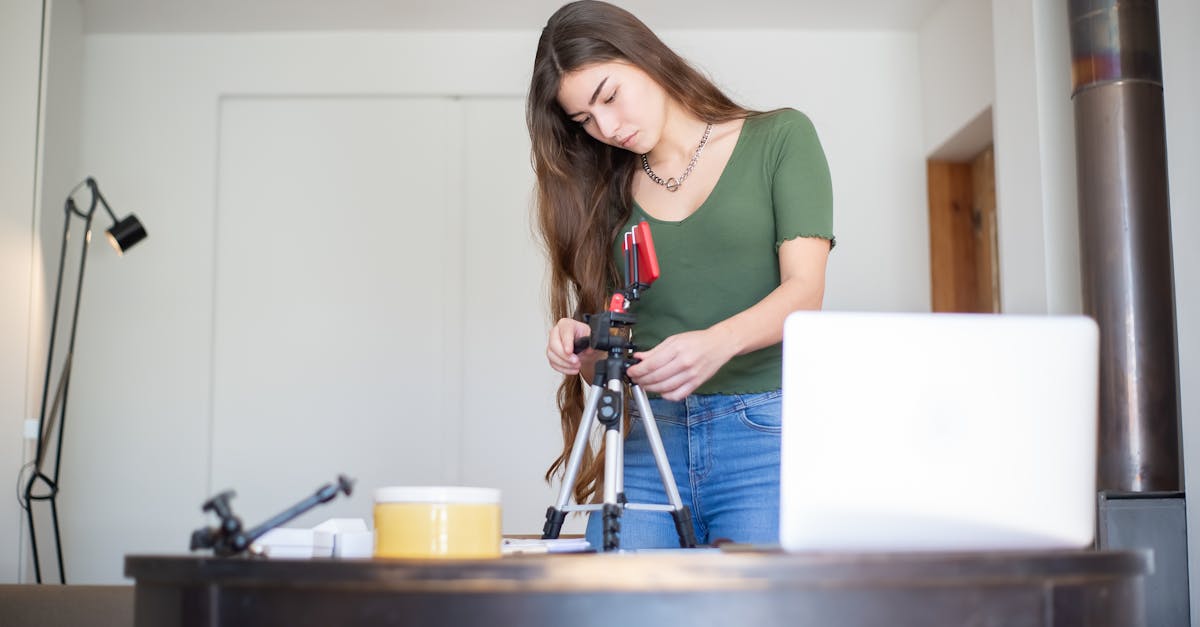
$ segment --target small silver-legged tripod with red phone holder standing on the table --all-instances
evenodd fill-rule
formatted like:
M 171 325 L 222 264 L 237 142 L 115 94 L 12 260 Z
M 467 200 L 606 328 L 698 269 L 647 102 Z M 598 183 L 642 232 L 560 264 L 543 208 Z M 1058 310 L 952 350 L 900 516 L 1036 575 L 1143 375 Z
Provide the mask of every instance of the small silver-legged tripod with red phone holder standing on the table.
M 626 369 L 637 363 L 637 359 L 632 357 L 637 347 L 631 339 L 632 327 L 637 323 L 637 317 L 628 309 L 632 301 L 638 299 L 640 291 L 648 288 L 659 277 L 650 227 L 646 221 L 625 233 L 624 249 L 625 289 L 613 294 L 607 311 L 587 316 L 592 333 L 588 338 L 575 342 L 576 353 L 590 346 L 598 351 L 607 351 L 608 357 L 596 362 L 595 377 L 583 407 L 583 418 L 580 420 L 580 429 L 575 434 L 575 444 L 568 458 L 563 488 L 559 491 L 557 503 L 546 509 L 546 525 L 542 527 L 541 537 L 544 539 L 557 538 L 568 512 L 600 509 L 604 514 L 602 549 L 605 551 L 617 550 L 620 548 L 622 513 L 625 509 L 649 509 L 671 512 L 676 531 L 679 533 L 679 545 L 691 548 L 696 545 L 691 510 L 683 504 L 683 500 L 679 497 L 679 489 L 671 473 L 671 464 L 667 461 L 666 449 L 662 448 L 662 437 L 654 422 L 649 399 L 646 398 L 646 392 L 642 390 L 641 386 L 634 384 L 626 374 Z M 626 383 L 631 386 L 634 402 L 637 404 L 637 413 L 642 418 L 642 425 L 646 429 L 650 450 L 654 453 L 654 462 L 662 478 L 662 488 L 666 490 L 670 504 L 629 503 L 625 500 L 624 389 Z M 569 503 L 575 479 L 580 472 L 583 450 L 596 420 L 605 426 L 604 501 L 595 504 L 571 506 Z

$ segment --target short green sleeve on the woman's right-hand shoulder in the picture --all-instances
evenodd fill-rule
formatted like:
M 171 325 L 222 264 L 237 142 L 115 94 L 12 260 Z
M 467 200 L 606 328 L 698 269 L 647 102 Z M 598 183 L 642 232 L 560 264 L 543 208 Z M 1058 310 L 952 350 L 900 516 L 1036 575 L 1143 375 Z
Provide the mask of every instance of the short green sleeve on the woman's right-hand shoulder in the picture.
M 828 239 L 833 247 L 833 183 L 816 127 L 794 109 L 780 111 L 774 121 L 775 247 L 799 237 Z

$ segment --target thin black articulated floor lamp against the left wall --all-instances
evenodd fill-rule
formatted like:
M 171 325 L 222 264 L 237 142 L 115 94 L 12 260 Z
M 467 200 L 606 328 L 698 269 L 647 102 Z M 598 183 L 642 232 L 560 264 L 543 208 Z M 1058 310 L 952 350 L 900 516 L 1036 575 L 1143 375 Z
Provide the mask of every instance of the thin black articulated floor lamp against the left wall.
M 74 192 L 79 187 L 86 186 L 91 191 L 91 204 L 86 211 L 80 211 L 74 202 Z M 142 241 L 146 237 L 145 228 L 137 216 L 130 214 L 121 220 L 113 215 L 108 202 L 100 193 L 96 180 L 88 177 L 86 180 L 76 185 L 64 204 L 62 219 L 62 250 L 59 253 L 59 279 L 54 293 L 54 312 L 50 317 L 50 347 L 46 356 L 46 381 L 42 384 L 42 408 L 37 418 L 37 450 L 32 462 L 32 474 L 25 483 L 24 500 L 22 507 L 25 509 L 25 518 L 29 521 L 29 539 L 34 550 L 34 573 L 37 583 L 42 583 L 42 566 L 37 554 L 37 529 L 34 526 L 34 502 L 47 501 L 50 506 L 50 519 L 54 526 L 54 549 L 59 561 L 59 580 L 67 583 L 66 571 L 62 568 L 62 539 L 59 533 L 59 512 L 55 500 L 59 495 L 59 466 L 62 456 L 62 429 L 67 416 L 67 390 L 71 383 L 71 362 L 74 356 L 76 327 L 79 323 L 79 295 L 83 293 L 83 270 L 88 264 L 88 245 L 91 244 L 91 219 L 96 214 L 96 208 L 103 207 L 108 217 L 113 220 L 113 227 L 107 231 L 108 241 L 121 255 L 131 246 Z M 71 219 L 78 216 L 84 220 L 83 251 L 79 255 L 79 276 L 76 280 L 74 312 L 71 316 L 71 335 L 67 339 L 67 352 L 62 360 L 62 370 L 59 374 L 59 382 L 54 388 L 54 400 L 47 411 L 46 401 L 50 392 L 50 372 L 54 369 L 54 340 L 59 327 L 59 305 L 62 301 L 62 270 L 66 264 L 67 244 L 71 234 Z M 55 423 L 58 429 L 55 430 Z M 54 461 L 47 468 L 47 452 L 50 443 L 54 443 Z

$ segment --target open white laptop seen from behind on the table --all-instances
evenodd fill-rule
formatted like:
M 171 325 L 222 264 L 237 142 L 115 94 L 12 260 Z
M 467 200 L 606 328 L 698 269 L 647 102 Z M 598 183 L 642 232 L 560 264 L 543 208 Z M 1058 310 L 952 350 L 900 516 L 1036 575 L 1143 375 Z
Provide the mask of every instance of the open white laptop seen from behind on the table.
M 791 315 L 784 549 L 1090 545 L 1098 354 L 1082 316 Z

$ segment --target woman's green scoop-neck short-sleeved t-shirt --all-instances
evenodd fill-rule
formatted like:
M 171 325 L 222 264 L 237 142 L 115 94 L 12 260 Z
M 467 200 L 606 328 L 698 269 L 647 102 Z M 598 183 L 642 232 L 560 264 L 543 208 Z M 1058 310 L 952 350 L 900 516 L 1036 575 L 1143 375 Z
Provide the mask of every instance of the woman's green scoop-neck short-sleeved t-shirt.
M 833 241 L 829 166 L 808 115 L 780 109 L 750 117 L 716 186 L 678 222 L 655 220 L 637 203 L 626 231 L 647 220 L 661 276 L 632 305 L 638 350 L 707 329 L 779 287 L 779 245 L 797 237 Z M 624 263 L 613 245 L 617 267 Z M 779 389 L 782 352 L 768 346 L 730 359 L 696 394 Z

